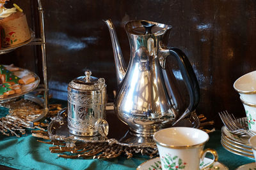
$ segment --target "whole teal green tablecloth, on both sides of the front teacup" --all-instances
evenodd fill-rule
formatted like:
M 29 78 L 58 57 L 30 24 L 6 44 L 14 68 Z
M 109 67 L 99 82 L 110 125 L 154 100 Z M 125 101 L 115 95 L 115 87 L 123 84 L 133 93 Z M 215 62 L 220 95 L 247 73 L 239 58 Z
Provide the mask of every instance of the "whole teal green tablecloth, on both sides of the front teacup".
M 3 114 L 0 108 L 0 115 Z M 225 150 L 220 143 L 221 131 L 212 132 L 205 148 L 214 148 L 219 155 L 219 162 L 230 170 L 243 164 L 254 162 L 243 156 Z M 142 162 L 150 159 L 140 154 L 127 159 L 122 155 L 116 159 L 63 159 L 57 153 L 50 153 L 48 145 L 40 143 L 31 134 L 20 138 L 0 134 L 0 164 L 16 169 L 136 169 Z

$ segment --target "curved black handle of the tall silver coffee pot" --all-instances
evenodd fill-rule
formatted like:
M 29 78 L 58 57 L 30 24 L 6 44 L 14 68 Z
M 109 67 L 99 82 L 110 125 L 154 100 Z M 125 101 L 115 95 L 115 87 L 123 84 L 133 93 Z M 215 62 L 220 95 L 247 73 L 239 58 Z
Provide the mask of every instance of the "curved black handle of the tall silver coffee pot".
M 195 110 L 200 99 L 200 89 L 199 89 L 198 81 L 196 79 L 196 75 L 193 70 L 193 67 L 191 66 L 188 60 L 188 57 L 186 57 L 184 52 L 182 52 L 178 48 L 168 48 L 168 49 L 160 48 L 160 50 L 162 50 L 163 53 L 166 52 L 166 57 L 169 55 L 173 55 L 175 59 L 178 61 L 180 72 L 182 74 L 182 77 L 184 79 L 184 82 L 186 84 L 186 87 L 189 93 L 189 100 L 190 100 L 189 106 L 186 109 L 186 111 L 184 111 L 184 113 L 182 113 L 182 115 L 180 115 L 180 117 L 173 122 L 172 125 L 175 125 L 177 122 L 179 122 L 179 120 L 189 115 L 191 111 Z M 164 62 L 165 62 L 165 59 L 166 58 L 164 58 Z M 165 69 L 165 66 L 162 65 L 162 69 Z M 162 71 L 162 73 L 166 74 L 165 71 Z M 166 76 L 164 75 L 164 77 Z

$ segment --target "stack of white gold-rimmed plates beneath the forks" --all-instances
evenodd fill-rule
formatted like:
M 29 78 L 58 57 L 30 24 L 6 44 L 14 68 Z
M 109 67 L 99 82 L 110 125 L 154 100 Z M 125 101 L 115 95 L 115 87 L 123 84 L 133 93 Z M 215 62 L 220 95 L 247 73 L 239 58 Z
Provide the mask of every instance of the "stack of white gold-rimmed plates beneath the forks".
M 221 129 L 221 145 L 226 150 L 237 155 L 254 159 L 252 148 L 248 142 L 248 139 L 248 137 L 232 134 L 225 126 Z

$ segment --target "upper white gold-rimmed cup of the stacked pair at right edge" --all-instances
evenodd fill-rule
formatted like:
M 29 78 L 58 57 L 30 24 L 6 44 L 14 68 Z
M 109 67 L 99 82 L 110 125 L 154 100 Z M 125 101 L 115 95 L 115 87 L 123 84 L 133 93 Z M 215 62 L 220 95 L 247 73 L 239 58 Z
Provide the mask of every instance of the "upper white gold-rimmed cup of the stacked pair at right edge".
M 256 71 L 238 78 L 233 87 L 246 103 L 256 104 Z

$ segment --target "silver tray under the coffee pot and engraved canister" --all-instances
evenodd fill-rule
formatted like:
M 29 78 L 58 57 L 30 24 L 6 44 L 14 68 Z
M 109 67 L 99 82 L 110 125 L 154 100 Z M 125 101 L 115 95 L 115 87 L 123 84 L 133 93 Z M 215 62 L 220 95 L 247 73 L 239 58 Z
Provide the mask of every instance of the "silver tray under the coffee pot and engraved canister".
M 58 115 L 52 118 L 51 123 L 47 127 L 47 132 L 50 139 L 56 139 L 66 142 L 90 142 L 90 143 L 116 143 L 122 146 L 136 146 L 136 147 L 150 147 L 156 148 L 156 143 L 152 138 L 132 136 L 129 127 L 123 122 L 118 120 L 115 111 L 107 110 L 106 120 L 109 123 L 109 134 L 107 137 L 92 136 L 92 137 L 79 137 L 74 136 L 68 132 L 67 127 L 67 108 L 61 110 Z M 184 118 L 175 126 L 195 127 L 198 128 L 200 121 L 196 113 L 191 113 L 190 118 Z

